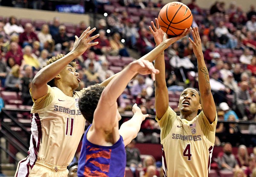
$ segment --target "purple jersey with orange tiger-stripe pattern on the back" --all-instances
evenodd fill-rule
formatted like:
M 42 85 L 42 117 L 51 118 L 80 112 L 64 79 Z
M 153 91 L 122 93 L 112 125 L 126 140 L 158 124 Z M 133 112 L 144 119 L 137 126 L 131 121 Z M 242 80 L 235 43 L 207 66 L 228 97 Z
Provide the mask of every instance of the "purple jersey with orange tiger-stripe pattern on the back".
M 123 137 L 112 146 L 100 146 L 87 140 L 88 127 L 84 134 L 81 155 L 78 160 L 78 177 L 122 177 L 126 166 Z

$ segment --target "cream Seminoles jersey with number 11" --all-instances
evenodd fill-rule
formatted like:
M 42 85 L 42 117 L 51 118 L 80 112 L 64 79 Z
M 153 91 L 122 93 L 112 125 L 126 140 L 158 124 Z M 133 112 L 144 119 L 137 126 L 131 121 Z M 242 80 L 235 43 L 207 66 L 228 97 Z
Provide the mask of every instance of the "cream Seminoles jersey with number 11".
M 78 107 L 84 91 L 85 88 L 74 91 L 73 97 L 69 97 L 48 85 L 46 95 L 33 99 L 30 157 L 56 166 L 69 165 L 84 133 L 85 119 Z

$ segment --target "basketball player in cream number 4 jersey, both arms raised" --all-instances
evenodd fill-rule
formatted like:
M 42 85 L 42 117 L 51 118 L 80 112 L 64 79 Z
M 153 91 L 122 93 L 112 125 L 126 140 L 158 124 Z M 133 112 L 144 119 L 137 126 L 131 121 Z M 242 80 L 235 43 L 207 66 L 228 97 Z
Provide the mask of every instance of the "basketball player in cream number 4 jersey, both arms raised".
M 153 22 L 151 24 L 153 29 L 149 28 L 158 45 L 162 42 L 161 36 L 164 32 L 159 29 L 157 18 L 156 26 Z M 190 38 L 189 40 L 197 58 L 200 92 L 195 88 L 187 88 L 181 93 L 178 106 L 180 115 L 169 107 L 164 53 L 155 61 L 155 68 L 160 71 L 156 75 L 155 107 L 156 120 L 161 128 L 160 139 L 165 177 L 206 177 L 210 172 L 217 113 L 197 27 L 193 28 L 192 35 L 194 41 Z

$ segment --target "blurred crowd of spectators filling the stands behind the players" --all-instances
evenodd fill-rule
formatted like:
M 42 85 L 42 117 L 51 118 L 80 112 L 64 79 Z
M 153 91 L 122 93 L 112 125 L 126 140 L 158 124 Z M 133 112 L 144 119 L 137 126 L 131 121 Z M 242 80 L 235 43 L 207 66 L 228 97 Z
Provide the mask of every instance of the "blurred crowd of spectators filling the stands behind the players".
M 135 60 L 130 56 L 131 51 L 140 55 L 151 51 L 155 43 L 148 25 L 164 4 L 162 1 L 121 0 L 97 5 L 101 5 L 108 16 L 97 20 L 93 35 L 100 34 L 95 40 L 99 44 L 75 59 L 79 64 L 77 70 L 81 80 L 77 90 L 100 83 L 121 71 Z M 255 7 L 251 5 L 250 11 L 245 12 L 235 1 L 231 4 L 216 1 L 210 9 L 201 9 L 196 0 L 191 0 L 187 5 L 193 13 L 192 26 L 199 26 L 218 119 L 233 121 L 228 126 L 218 123 L 216 133 L 241 133 L 241 127 L 236 122 L 256 120 Z M 89 24 L 84 21 L 73 25 L 61 24 L 57 17 L 41 25 L 14 16 L 0 17 L 1 90 L 18 92 L 23 105 L 32 105 L 29 89 L 36 72 L 51 56 L 67 54 L 73 48 L 74 36 L 80 36 L 87 26 Z M 170 107 L 178 111 L 181 91 L 187 86 L 198 88 L 197 61 L 187 37 L 172 44 L 164 55 Z M 119 111 L 131 111 L 132 104 L 137 103 L 143 114 L 155 115 L 154 97 L 154 82 L 150 76 L 138 76 L 119 97 Z M 0 109 L 2 102 L 0 99 Z M 142 123 L 142 128 L 159 129 L 159 126 L 149 118 Z M 246 133 L 256 134 L 255 129 L 255 125 L 250 125 Z M 139 142 L 159 143 L 158 134 L 140 132 L 138 137 Z M 221 145 L 221 142 L 222 138 L 216 136 L 215 145 Z M 136 169 L 140 167 L 145 177 L 161 176 L 161 170 L 156 170 L 159 166 L 155 160 L 142 160 L 133 143 L 126 147 L 127 166 L 132 172 L 137 173 Z M 240 145 L 235 156 L 232 145 L 239 143 L 234 140 L 231 144 L 225 144 L 218 159 L 214 159 L 217 167 L 233 171 L 236 176 L 242 168 L 242 173 L 256 176 L 256 150 L 254 156 L 248 155 L 246 147 Z M 255 138 L 252 138 L 250 145 L 256 146 Z

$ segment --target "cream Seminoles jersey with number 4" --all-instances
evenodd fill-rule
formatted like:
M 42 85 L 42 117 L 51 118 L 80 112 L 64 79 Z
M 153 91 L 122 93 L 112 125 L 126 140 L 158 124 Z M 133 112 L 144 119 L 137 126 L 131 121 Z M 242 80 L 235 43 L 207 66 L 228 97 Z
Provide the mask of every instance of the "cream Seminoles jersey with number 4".
M 156 120 L 161 129 L 164 176 L 208 176 L 217 113 L 215 121 L 210 124 L 203 111 L 192 121 L 188 121 L 180 119 L 169 107 L 160 121 L 157 116 Z

